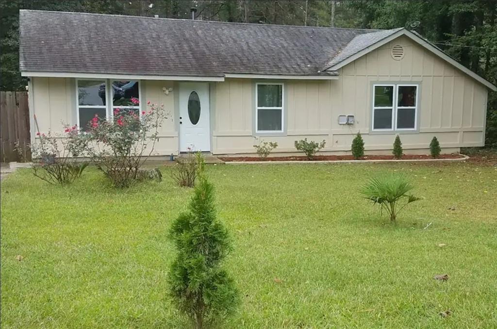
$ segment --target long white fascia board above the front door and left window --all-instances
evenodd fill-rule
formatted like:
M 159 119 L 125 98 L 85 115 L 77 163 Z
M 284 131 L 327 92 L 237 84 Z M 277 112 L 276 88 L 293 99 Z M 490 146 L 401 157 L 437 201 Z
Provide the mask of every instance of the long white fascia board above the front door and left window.
M 208 81 L 223 82 L 224 77 L 189 77 L 189 76 L 147 76 L 101 73 L 70 73 L 70 72 L 21 72 L 22 77 L 46 78 L 80 78 L 80 79 L 128 79 L 128 80 L 174 80 L 174 81 Z

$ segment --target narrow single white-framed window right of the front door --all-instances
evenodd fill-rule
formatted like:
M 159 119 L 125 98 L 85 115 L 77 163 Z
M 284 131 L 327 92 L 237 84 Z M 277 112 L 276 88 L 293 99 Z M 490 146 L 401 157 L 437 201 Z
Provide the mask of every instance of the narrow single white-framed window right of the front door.
M 283 83 L 256 83 L 256 132 L 283 131 Z

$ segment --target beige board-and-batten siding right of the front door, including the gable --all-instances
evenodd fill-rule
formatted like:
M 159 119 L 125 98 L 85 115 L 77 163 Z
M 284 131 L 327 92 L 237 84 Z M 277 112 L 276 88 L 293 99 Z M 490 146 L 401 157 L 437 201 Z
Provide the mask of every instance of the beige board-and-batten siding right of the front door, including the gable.
M 402 60 L 391 48 L 404 47 Z M 278 142 L 278 152 L 295 152 L 294 141 L 326 140 L 323 151 L 350 151 L 355 134 L 363 134 L 366 151 L 390 153 L 395 132 L 371 132 L 372 84 L 419 83 L 419 131 L 401 133 L 407 153 L 426 153 L 436 136 L 444 152 L 483 146 L 487 88 L 449 63 L 401 36 L 341 68 L 331 81 L 287 80 L 285 85 L 286 136 L 261 137 Z M 213 153 L 253 153 L 254 82 L 226 79 L 216 82 Z M 354 115 L 354 125 L 339 125 L 338 115 Z

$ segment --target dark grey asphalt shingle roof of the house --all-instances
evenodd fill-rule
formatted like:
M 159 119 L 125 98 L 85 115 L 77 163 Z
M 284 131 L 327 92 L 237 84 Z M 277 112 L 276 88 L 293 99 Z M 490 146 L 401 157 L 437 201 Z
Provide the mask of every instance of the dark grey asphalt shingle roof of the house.
M 23 72 L 206 77 L 317 75 L 396 31 L 38 10 L 19 24 Z

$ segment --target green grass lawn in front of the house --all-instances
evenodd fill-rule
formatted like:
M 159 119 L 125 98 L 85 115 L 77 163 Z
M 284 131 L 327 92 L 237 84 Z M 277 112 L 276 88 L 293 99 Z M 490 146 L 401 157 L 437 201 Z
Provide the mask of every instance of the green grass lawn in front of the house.
M 69 187 L 28 169 L 3 180 L 2 328 L 185 327 L 167 298 L 174 249 L 166 235 L 192 190 L 175 187 L 167 170 L 165 181 L 128 191 L 111 189 L 93 168 Z M 397 225 L 357 192 L 369 176 L 392 171 L 425 198 Z M 496 166 L 207 172 L 242 298 L 226 328 L 497 327 Z M 448 281 L 433 279 L 445 273 Z

